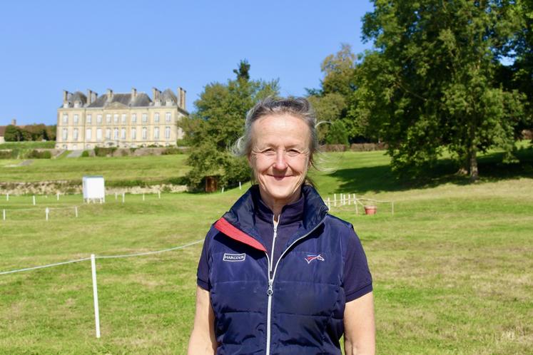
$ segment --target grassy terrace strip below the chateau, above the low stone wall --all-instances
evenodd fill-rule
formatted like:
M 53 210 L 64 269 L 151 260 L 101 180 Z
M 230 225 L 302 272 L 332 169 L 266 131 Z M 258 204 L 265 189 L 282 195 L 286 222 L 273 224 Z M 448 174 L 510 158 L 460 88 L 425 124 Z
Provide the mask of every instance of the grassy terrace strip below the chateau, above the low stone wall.
M 83 175 L 103 175 L 106 181 L 141 180 L 160 182 L 186 174 L 187 155 L 159 155 L 120 158 L 59 158 L 34 159 L 30 165 L 23 160 L 0 160 L 0 181 L 37 182 L 49 180 L 79 180 Z

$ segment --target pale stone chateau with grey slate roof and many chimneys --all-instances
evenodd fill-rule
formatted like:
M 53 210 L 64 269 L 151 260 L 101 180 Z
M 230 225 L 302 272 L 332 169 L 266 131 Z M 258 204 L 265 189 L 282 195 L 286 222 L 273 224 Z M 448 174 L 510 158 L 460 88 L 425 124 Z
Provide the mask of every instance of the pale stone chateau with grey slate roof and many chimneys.
M 138 148 L 148 145 L 176 145 L 183 138 L 177 123 L 188 115 L 186 91 L 177 95 L 166 89 L 146 93 L 113 93 L 106 95 L 88 90 L 87 95 L 63 91 L 63 105 L 57 110 L 56 148 L 82 150 L 99 147 Z

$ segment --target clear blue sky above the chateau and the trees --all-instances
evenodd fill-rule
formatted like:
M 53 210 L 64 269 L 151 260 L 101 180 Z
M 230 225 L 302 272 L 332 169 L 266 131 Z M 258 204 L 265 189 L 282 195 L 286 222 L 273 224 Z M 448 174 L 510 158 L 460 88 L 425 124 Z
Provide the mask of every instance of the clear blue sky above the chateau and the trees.
M 320 63 L 362 43 L 363 1 L 4 1 L 0 5 L 0 125 L 56 123 L 62 90 L 178 86 L 187 108 L 211 82 L 279 78 L 283 95 L 318 88 Z

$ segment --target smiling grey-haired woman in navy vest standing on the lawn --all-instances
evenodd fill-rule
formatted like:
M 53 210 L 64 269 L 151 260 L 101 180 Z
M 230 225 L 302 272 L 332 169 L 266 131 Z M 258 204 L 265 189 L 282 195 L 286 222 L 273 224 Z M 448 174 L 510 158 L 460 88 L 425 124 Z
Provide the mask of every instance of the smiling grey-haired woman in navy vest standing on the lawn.
M 258 185 L 205 237 L 188 354 L 374 354 L 372 278 L 352 225 L 305 178 L 318 150 L 305 98 L 267 98 L 235 144 Z

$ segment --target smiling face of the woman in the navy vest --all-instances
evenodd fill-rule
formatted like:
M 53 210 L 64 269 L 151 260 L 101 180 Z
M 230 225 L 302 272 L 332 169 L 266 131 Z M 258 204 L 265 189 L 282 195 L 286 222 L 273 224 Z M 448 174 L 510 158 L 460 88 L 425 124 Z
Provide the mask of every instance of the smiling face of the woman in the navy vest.
M 310 130 L 293 115 L 265 115 L 252 125 L 250 166 L 261 196 L 287 204 L 298 200 L 309 167 Z

